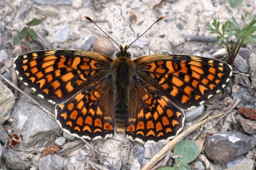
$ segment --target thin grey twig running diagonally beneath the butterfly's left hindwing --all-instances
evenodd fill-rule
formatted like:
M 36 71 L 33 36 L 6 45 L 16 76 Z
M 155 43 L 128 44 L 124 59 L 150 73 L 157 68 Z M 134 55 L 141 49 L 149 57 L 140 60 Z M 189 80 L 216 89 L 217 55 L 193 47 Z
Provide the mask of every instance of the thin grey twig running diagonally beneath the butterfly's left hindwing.
M 24 94 L 24 96 L 28 97 L 28 99 L 30 99 L 33 103 L 35 103 L 39 108 L 41 108 L 43 111 L 45 111 L 45 113 L 47 113 L 49 116 L 51 116 L 53 119 L 55 119 L 54 115 L 52 115 L 51 112 L 49 112 L 48 110 L 46 110 L 43 106 L 41 106 L 39 103 L 37 103 L 32 97 L 28 96 L 28 94 L 24 93 L 22 90 L 19 89 L 19 87 L 15 86 L 11 81 L 9 81 L 8 79 L 6 79 L 2 74 L 0 74 L 1 78 L 3 78 L 3 80 L 5 80 L 7 83 L 9 83 L 14 89 L 17 89 L 20 93 Z M 82 139 L 84 141 L 84 143 L 86 143 L 88 146 L 90 146 L 90 148 L 92 148 L 92 150 L 94 150 L 94 152 L 96 152 L 97 154 L 100 155 L 100 157 L 102 157 L 104 160 L 106 160 L 97 150 L 95 150 L 88 142 L 86 142 L 84 139 Z M 106 160 L 108 162 L 108 160 Z M 109 162 L 108 162 L 109 163 Z M 112 164 L 109 163 L 109 165 L 113 166 Z M 115 166 L 113 166 L 115 168 Z M 115 168 L 116 169 L 116 168 Z

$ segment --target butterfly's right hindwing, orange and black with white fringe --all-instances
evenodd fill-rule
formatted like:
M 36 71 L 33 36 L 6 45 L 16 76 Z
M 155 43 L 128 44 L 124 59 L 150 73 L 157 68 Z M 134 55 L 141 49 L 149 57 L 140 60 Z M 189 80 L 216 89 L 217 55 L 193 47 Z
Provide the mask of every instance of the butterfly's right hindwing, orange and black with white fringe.
M 132 83 L 125 134 L 140 142 L 174 138 L 183 127 L 183 111 L 157 89 L 142 82 Z

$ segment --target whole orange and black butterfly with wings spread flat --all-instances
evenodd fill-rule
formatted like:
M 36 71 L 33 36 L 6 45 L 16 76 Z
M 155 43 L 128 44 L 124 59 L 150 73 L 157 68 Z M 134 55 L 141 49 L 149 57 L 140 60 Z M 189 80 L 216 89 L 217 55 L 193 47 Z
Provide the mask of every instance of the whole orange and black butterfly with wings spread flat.
M 99 139 L 116 130 L 140 142 L 174 138 L 184 124 L 182 110 L 220 92 L 232 75 L 232 67 L 216 59 L 157 54 L 132 60 L 128 46 L 119 47 L 114 60 L 96 52 L 44 50 L 20 55 L 14 66 L 25 85 L 56 104 L 63 131 Z

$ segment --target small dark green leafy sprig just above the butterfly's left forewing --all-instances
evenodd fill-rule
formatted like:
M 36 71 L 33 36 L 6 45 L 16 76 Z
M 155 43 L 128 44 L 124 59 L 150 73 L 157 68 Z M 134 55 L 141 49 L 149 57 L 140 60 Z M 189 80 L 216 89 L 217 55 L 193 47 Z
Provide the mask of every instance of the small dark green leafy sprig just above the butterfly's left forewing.
M 41 20 L 33 19 L 29 21 L 21 31 L 15 32 L 15 36 L 13 37 L 13 45 L 19 45 L 22 47 L 22 52 L 30 52 L 33 50 L 33 45 L 31 45 L 32 41 L 36 41 L 38 35 L 35 30 L 31 28 L 31 26 L 36 26 L 41 24 Z

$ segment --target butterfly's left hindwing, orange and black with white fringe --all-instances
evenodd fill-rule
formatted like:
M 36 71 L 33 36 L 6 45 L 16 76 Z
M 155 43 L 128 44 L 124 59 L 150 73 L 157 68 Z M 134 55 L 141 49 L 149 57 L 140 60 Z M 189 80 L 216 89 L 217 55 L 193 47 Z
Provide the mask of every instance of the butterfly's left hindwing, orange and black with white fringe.
M 56 120 L 70 134 L 85 139 L 113 135 L 113 81 L 95 81 L 65 103 L 56 105 Z

